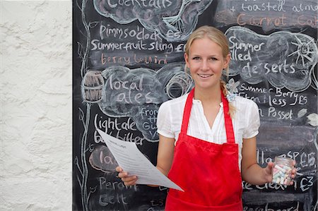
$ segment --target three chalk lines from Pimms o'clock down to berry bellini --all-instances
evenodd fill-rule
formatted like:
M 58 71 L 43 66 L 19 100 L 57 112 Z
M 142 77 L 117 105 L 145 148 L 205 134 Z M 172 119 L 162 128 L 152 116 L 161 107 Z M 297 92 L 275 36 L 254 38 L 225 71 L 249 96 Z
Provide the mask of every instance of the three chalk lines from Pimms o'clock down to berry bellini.
M 139 25 L 115 25 L 105 20 L 90 25 L 86 48 L 78 44 L 78 54 L 89 54 L 86 60 L 93 68 L 134 64 L 164 64 L 183 57 L 184 43 L 167 42 L 158 34 Z M 83 52 L 85 51 L 85 53 Z M 178 59 L 179 60 L 179 59 Z

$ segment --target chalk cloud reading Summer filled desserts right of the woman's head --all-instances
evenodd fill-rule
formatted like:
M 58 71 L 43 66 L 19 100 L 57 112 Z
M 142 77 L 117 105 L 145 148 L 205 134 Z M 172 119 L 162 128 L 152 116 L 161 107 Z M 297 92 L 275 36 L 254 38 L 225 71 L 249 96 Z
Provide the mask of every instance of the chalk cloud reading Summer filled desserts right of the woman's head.
M 230 76 L 240 74 L 247 83 L 264 79 L 276 88 L 306 90 L 317 64 L 317 46 L 312 37 L 300 33 L 274 32 L 258 35 L 241 27 L 229 28 L 232 62 Z

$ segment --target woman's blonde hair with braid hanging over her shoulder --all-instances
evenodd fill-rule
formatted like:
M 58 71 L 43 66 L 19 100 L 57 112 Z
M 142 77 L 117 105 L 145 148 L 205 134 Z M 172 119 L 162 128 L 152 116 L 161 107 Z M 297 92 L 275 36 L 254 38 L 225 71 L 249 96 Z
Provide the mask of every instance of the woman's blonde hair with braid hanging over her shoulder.
M 192 34 L 189 36 L 189 39 L 187 40 L 184 52 L 189 55 L 189 49 L 194 40 L 203 39 L 205 37 L 208 37 L 208 39 L 210 39 L 212 42 L 215 42 L 221 47 L 224 59 L 228 56 L 228 54 L 230 54 L 230 49 L 228 47 L 228 38 L 217 28 L 208 25 L 201 26 L 200 28 L 197 28 L 196 30 L 194 30 L 194 32 L 192 32 Z M 226 68 L 226 76 L 228 76 L 228 67 Z M 226 83 L 222 79 L 220 80 L 220 89 L 225 96 L 228 95 Z M 231 117 L 233 117 L 235 114 L 235 107 L 230 102 L 229 114 Z

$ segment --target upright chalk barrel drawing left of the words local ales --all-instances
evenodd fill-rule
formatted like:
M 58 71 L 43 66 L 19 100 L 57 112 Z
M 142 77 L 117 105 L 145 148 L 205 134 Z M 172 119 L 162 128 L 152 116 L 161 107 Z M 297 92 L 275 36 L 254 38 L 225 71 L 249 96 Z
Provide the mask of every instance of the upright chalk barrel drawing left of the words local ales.
M 97 103 L 102 100 L 104 78 L 101 71 L 88 71 L 81 83 L 81 93 L 84 102 Z

